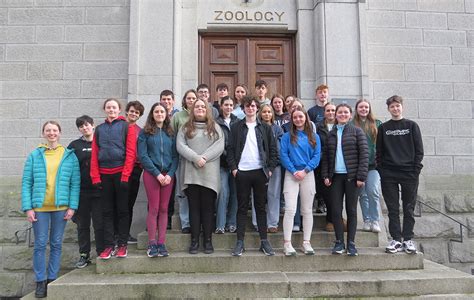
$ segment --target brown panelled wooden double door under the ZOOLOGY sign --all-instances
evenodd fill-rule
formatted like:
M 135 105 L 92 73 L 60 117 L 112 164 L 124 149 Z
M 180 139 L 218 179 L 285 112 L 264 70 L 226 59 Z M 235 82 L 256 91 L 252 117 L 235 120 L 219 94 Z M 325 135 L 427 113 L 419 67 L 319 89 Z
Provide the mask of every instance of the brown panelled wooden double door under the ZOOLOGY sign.
M 231 95 L 244 83 L 252 94 L 259 79 L 269 85 L 268 98 L 295 94 L 295 74 L 293 36 L 200 36 L 199 82 L 208 84 L 212 95 L 219 83 L 226 83 Z

